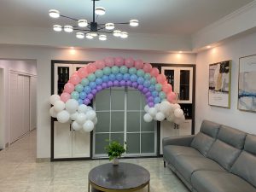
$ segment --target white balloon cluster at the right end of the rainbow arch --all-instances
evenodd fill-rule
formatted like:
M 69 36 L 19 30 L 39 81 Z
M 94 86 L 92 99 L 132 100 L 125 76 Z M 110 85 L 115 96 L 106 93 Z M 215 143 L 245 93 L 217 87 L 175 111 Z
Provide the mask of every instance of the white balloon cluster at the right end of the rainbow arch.
M 167 101 L 155 104 L 154 108 L 149 108 L 148 105 L 146 105 L 144 110 L 146 113 L 144 114 L 143 119 L 146 122 L 150 122 L 153 119 L 158 121 L 167 119 L 168 121 L 180 125 L 185 119 L 183 110 L 180 108 L 180 105 L 172 104 Z

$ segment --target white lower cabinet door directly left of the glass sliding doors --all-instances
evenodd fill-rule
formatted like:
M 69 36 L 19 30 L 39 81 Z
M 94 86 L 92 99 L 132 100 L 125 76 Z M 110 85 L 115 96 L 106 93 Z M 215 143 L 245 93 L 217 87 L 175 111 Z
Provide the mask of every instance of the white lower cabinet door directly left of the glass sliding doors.
M 73 157 L 90 157 L 90 132 L 73 131 Z

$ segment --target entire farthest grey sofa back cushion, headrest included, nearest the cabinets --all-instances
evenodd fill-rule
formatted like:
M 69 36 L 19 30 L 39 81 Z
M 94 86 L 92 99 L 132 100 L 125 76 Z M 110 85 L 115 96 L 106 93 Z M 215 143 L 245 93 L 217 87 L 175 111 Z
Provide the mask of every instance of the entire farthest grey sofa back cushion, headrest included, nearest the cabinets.
M 191 147 L 197 149 L 201 154 L 206 156 L 218 135 L 219 127 L 219 124 L 204 120 L 201 124 L 200 132 L 195 136 L 191 143 Z

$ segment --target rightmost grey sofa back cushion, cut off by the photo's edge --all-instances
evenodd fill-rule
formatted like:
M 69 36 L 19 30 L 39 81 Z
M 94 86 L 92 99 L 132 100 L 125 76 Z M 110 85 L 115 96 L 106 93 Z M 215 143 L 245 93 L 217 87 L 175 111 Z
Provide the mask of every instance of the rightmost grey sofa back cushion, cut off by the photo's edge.
M 256 187 L 256 136 L 247 135 L 244 150 L 231 167 L 231 172 Z

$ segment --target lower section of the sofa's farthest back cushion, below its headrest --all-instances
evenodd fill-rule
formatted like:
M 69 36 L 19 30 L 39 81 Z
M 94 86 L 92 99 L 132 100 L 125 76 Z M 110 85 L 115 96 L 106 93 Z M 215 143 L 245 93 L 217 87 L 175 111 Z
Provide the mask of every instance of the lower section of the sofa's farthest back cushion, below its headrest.
M 209 137 L 207 134 L 199 132 L 193 139 L 191 147 L 196 148 L 198 151 L 200 151 L 201 154 L 206 156 L 214 141 L 215 138 Z

